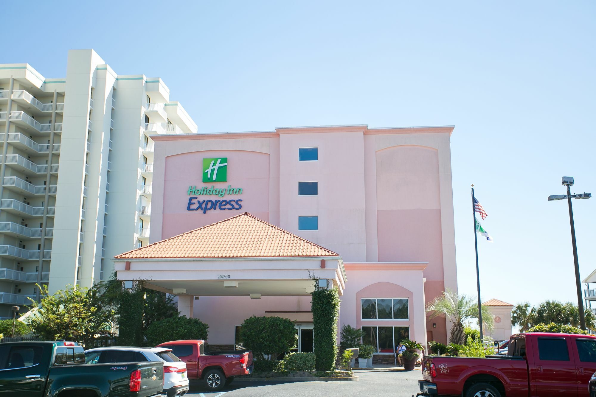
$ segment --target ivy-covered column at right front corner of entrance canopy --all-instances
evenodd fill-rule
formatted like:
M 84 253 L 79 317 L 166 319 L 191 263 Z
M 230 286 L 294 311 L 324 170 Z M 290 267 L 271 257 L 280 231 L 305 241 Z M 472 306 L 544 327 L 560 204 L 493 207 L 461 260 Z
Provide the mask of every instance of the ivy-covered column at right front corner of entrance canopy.
M 332 371 L 336 365 L 339 302 L 337 288 L 319 287 L 316 281 L 311 311 L 317 371 Z

